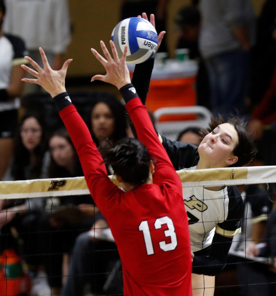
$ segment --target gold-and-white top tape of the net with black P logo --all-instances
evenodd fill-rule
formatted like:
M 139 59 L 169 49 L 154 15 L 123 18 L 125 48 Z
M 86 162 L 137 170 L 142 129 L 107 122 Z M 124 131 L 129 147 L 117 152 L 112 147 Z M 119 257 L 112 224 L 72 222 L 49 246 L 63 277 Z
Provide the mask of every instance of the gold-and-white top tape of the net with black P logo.
M 276 183 L 276 166 L 177 171 L 183 187 Z M 119 185 L 114 176 L 111 180 Z M 1 181 L 0 199 L 89 194 L 84 177 Z

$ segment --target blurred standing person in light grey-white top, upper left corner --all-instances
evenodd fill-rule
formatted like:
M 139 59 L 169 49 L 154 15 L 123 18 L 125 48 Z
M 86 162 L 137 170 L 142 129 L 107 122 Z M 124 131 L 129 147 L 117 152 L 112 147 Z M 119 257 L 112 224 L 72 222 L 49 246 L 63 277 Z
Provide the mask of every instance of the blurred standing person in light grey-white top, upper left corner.
M 38 48 L 43 47 L 51 67 L 61 69 L 62 55 L 70 44 L 67 0 L 6 0 L 6 7 L 3 31 L 20 36 L 36 61 L 41 61 Z

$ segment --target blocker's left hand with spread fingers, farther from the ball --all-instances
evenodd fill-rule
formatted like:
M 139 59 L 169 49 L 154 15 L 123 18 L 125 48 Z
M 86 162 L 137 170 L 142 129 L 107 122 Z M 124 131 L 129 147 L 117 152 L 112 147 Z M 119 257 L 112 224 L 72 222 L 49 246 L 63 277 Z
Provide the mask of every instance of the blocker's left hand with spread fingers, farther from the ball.
M 47 60 L 46 54 L 40 47 L 39 52 L 41 54 L 42 62 L 44 68 L 42 69 L 37 62 L 35 62 L 30 57 L 25 57 L 25 59 L 30 62 L 30 64 L 35 68 L 35 70 L 27 67 L 26 65 L 21 65 L 21 67 L 35 76 L 37 79 L 23 78 L 22 81 L 28 83 L 36 83 L 43 87 L 49 94 L 54 97 L 66 91 L 65 89 L 65 76 L 67 72 L 68 65 L 72 62 L 72 59 L 67 59 L 64 62 L 62 68 L 58 71 L 53 70 Z

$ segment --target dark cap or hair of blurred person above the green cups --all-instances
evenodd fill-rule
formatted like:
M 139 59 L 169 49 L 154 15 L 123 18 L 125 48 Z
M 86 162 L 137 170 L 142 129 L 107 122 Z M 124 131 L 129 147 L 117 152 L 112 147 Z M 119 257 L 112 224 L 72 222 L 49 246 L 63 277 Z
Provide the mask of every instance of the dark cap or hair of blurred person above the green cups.
M 186 6 L 179 10 L 175 22 L 178 26 L 196 26 L 200 23 L 200 13 L 196 7 Z

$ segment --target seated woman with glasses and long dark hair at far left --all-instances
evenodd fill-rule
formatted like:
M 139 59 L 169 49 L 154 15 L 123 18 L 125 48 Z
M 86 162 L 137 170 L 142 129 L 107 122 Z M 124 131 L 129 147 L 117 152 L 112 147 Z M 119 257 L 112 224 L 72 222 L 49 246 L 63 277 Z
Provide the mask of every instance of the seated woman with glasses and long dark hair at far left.
M 19 124 L 13 159 L 4 176 L 5 181 L 46 178 L 49 165 L 43 120 L 35 113 L 26 113 Z M 2 200 L 0 204 L 0 252 L 15 248 L 30 265 L 38 266 L 37 222 L 44 208 L 44 198 Z M 5 227 L 3 227 L 5 225 Z M 23 245 L 11 234 L 18 232 Z

